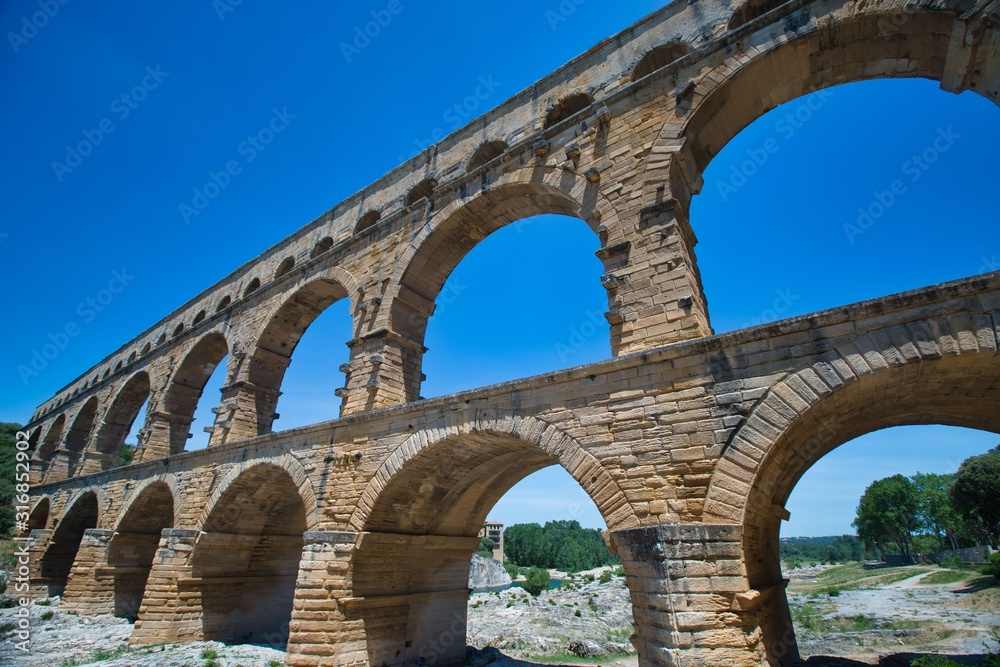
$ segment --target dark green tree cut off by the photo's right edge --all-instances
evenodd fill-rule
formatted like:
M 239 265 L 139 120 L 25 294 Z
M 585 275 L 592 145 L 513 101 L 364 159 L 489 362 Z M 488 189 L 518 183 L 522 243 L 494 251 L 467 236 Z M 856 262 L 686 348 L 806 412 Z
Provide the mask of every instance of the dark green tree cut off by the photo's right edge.
M 997 546 L 1000 538 L 1000 446 L 963 461 L 949 496 L 965 521 L 981 526 L 990 544 Z

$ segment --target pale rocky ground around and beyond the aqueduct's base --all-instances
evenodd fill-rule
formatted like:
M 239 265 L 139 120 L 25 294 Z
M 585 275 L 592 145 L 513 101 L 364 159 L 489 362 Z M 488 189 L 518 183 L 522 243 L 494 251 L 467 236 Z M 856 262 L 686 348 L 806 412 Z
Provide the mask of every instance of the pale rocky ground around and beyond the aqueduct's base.
M 909 667 L 915 653 L 958 655 L 1000 651 L 1000 587 L 987 577 L 939 568 L 816 568 L 790 573 L 789 596 L 809 667 Z M 947 572 L 947 571 L 945 571 Z M 631 606 L 622 577 L 601 570 L 576 575 L 533 598 L 520 588 L 469 601 L 472 667 L 604 664 L 635 667 L 628 641 Z M 934 581 L 934 579 L 930 579 Z M 831 590 L 836 590 L 830 595 Z M 14 645 L 17 609 L 0 609 L 0 665 L 24 667 L 269 667 L 284 653 L 256 646 L 199 642 L 128 651 L 122 619 L 62 614 L 59 599 L 30 607 L 32 653 Z M 821 656 L 840 656 L 831 659 Z M 962 660 L 960 660 L 962 661 Z M 969 662 L 968 664 L 976 664 Z

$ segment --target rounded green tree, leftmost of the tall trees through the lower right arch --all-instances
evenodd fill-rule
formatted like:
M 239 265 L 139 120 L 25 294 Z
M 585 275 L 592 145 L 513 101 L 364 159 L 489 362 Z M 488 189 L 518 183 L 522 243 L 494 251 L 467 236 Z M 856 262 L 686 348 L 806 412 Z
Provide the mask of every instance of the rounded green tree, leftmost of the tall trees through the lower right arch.
M 872 482 L 858 503 L 854 527 L 858 537 L 875 545 L 881 557 L 887 543 L 912 561 L 913 532 L 917 519 L 917 488 L 903 475 Z

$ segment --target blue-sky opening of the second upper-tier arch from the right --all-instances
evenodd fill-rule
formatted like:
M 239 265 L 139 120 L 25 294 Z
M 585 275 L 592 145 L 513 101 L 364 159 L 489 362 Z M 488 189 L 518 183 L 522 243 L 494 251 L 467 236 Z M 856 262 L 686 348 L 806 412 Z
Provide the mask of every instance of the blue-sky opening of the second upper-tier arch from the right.
M 519 220 L 483 239 L 448 276 L 428 320 L 426 397 L 611 356 L 600 239 L 568 216 Z M 527 289 L 525 267 L 531 267 Z

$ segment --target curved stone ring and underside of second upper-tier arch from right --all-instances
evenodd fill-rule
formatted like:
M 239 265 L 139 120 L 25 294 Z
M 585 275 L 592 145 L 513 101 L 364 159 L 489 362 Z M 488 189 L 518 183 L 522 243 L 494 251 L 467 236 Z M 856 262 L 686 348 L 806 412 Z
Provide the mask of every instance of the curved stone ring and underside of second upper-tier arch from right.
M 621 226 L 615 207 L 593 183 L 561 171 L 549 172 L 540 182 L 533 169 L 504 174 L 489 189 L 442 207 L 433 221 L 414 233 L 386 289 L 390 306 L 380 311 L 387 320 L 381 321 L 383 326 L 404 341 L 399 354 L 404 369 L 400 393 L 405 400 L 420 395 L 423 341 L 435 301 L 451 272 L 483 239 L 508 224 L 544 214 L 584 221 L 602 244 L 607 238 L 603 230 Z M 596 210 L 602 212 L 599 223 Z M 607 268 L 613 259 L 602 261 Z M 611 347 L 617 349 L 614 333 Z

